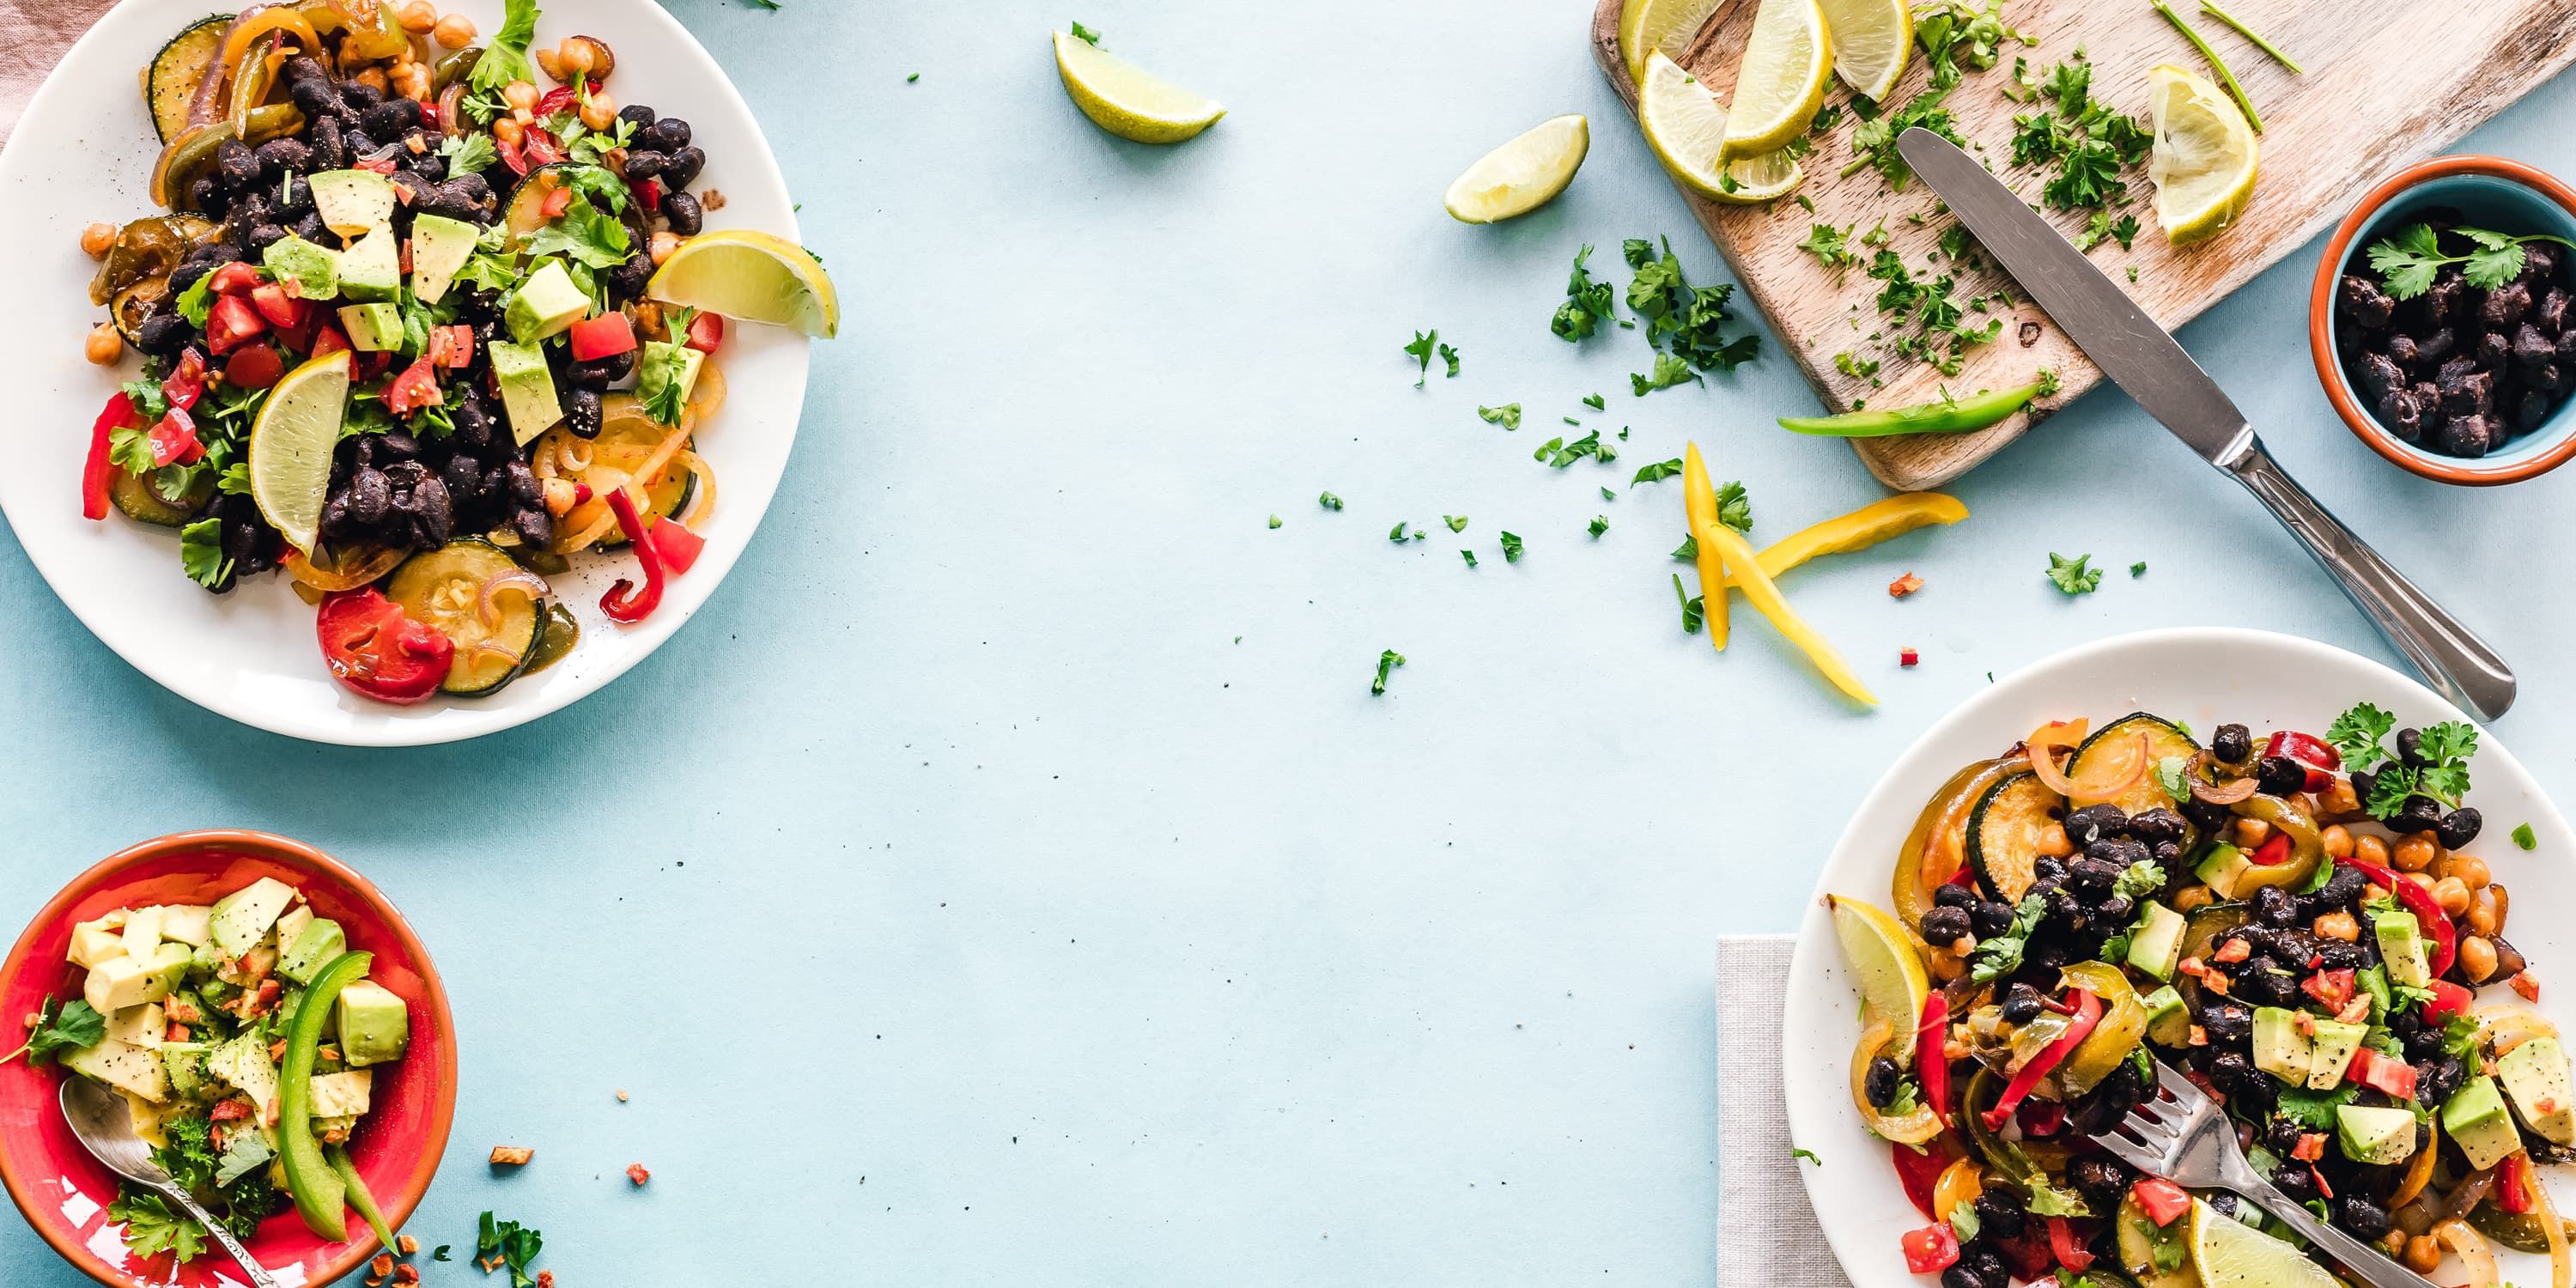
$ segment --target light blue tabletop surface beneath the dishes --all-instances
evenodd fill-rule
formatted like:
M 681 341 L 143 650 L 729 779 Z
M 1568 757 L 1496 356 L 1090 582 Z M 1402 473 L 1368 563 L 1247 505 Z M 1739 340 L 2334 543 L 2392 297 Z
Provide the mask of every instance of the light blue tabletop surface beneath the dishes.
M 1633 332 L 1548 335 L 1582 242 L 1618 268 L 1669 234 L 1721 276 L 1589 5 L 1064 3 L 672 3 L 768 121 L 845 325 L 750 554 L 590 701 L 459 747 L 258 734 L 118 662 L 0 538 L 0 922 L 185 827 L 361 866 L 461 1028 L 412 1231 L 471 1247 L 497 1208 L 564 1288 L 1708 1283 L 1710 940 L 1795 925 L 1909 739 L 1989 670 L 2143 626 L 2393 659 L 2117 392 L 1960 479 L 1968 523 L 1795 574 L 1878 711 L 1759 623 L 1713 657 L 1672 600 L 1680 482 L 1628 489 L 1636 464 L 1698 435 L 1757 536 L 1883 489 L 1770 428 L 1814 407 L 1777 350 L 1636 399 Z M 1066 18 L 1231 116 L 1108 139 L 1046 54 Z M 1595 131 L 1564 198 L 1440 211 L 1564 111 Z M 2571 173 L 2571 111 L 2561 77 L 2465 147 Z M 2460 492 L 2370 456 L 2308 368 L 2316 255 L 2182 337 L 2512 659 L 2499 732 L 2566 781 L 2576 471 Z M 1414 389 L 1417 327 L 1458 379 Z M 1476 420 L 1512 399 L 1520 433 Z M 1543 469 L 1558 415 L 1633 435 Z M 1391 546 L 1399 520 L 1435 538 Z M 2112 574 L 2069 600 L 2048 551 Z M 1906 569 L 1929 587 L 1891 603 Z M 495 1175 L 502 1141 L 536 1164 Z M 82 1280 L 0 1218 L 0 1283 Z

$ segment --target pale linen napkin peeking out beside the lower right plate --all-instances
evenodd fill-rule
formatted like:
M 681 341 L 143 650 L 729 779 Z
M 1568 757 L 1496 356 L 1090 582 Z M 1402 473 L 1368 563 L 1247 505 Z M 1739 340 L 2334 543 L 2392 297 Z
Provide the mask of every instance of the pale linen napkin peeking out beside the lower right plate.
M 1718 940 L 1718 1288 L 1850 1288 L 1788 1154 L 1780 997 L 1795 935 Z

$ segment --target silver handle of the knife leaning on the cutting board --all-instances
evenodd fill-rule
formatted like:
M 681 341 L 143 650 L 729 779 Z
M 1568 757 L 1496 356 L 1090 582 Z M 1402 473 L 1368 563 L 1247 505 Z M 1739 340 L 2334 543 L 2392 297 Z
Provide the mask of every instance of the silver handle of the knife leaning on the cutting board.
M 2416 590 L 2403 572 L 2388 567 L 2380 551 L 2352 536 L 2298 479 L 2290 479 L 2262 440 L 2244 435 L 2244 451 L 2223 464 L 2236 482 L 2262 500 L 2282 528 L 2298 536 L 2308 554 L 2334 574 L 2352 605 L 2424 672 L 2437 693 L 2468 708 L 2481 721 L 2514 706 L 2514 672 L 2476 631 L 2450 616 L 2432 595 Z

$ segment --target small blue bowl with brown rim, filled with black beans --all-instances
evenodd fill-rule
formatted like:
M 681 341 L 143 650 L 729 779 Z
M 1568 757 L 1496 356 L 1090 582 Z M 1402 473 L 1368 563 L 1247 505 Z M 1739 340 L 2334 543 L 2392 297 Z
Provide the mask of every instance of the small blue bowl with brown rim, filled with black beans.
M 2576 191 L 2501 157 L 2372 188 L 2308 304 L 2344 425 L 2427 479 L 2506 484 L 2576 456 Z

